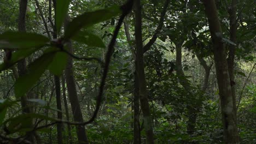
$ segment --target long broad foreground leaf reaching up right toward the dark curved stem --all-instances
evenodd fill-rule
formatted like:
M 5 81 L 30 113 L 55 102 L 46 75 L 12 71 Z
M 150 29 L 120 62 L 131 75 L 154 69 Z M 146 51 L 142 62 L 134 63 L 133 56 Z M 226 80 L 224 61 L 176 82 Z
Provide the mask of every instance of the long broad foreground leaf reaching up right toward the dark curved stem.
M 119 13 L 121 13 L 121 9 L 118 6 L 114 6 L 79 15 L 68 24 L 64 39 L 72 38 L 83 27 L 90 27 L 98 22 L 106 21 Z

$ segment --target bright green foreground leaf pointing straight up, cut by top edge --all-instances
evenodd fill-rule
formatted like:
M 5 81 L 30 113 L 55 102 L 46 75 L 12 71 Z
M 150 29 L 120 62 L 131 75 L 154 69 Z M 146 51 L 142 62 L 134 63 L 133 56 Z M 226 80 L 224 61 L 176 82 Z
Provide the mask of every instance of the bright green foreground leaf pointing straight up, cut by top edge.
M 62 23 L 67 16 L 68 6 L 71 0 L 56 0 L 56 30 L 60 32 Z

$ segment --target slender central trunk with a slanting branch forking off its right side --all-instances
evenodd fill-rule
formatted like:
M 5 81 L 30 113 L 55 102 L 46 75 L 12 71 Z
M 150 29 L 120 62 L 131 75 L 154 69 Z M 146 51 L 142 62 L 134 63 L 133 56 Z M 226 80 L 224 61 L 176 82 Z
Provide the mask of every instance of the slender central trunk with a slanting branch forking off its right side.
M 154 143 L 152 118 L 148 103 L 147 82 L 144 71 L 144 50 L 142 44 L 142 17 L 141 17 L 141 1 L 135 1 L 135 38 L 136 38 L 136 73 L 139 84 L 139 97 L 141 101 L 141 109 L 143 112 L 144 127 L 146 131 L 146 140 L 148 144 Z

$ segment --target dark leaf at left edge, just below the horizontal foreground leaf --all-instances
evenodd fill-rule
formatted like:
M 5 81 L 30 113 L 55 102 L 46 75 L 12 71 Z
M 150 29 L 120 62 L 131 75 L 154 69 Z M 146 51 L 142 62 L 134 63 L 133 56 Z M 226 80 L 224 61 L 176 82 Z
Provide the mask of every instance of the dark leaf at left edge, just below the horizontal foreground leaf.
M 18 50 L 14 52 L 13 55 L 11 56 L 10 61 L 7 61 L 0 65 L 0 71 L 10 68 L 15 63 L 18 63 L 18 61 L 20 61 L 21 59 L 31 55 L 31 53 L 33 53 L 34 51 L 36 51 L 36 49 Z

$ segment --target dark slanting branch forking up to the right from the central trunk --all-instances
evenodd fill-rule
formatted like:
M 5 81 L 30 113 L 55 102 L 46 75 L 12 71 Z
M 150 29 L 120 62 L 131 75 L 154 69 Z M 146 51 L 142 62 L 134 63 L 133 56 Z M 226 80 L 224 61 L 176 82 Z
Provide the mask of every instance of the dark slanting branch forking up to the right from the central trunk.
M 157 34 L 162 29 L 162 26 L 164 26 L 165 13 L 167 11 L 167 7 L 168 7 L 169 3 L 170 3 L 170 0 L 166 0 L 164 8 L 162 9 L 162 12 L 161 12 L 161 17 L 160 17 L 160 20 L 158 23 L 158 27 L 155 29 L 155 33 L 154 33 L 153 37 L 143 47 L 144 52 L 147 52 L 150 49 L 150 47 L 155 43 L 155 40 L 158 38 Z

